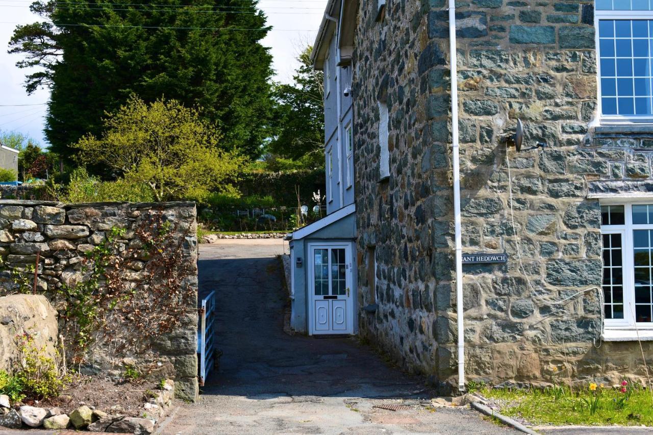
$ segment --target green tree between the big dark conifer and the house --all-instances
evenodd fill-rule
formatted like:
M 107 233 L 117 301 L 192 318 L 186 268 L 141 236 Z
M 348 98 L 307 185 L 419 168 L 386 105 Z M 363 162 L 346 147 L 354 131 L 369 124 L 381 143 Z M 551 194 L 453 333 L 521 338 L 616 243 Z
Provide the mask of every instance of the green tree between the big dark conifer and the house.
M 277 84 L 272 96 L 274 138 L 268 144 L 270 163 L 291 159 L 304 168 L 324 166 L 323 73 L 311 64 L 312 46 L 298 57 L 294 84 Z

